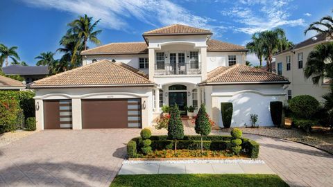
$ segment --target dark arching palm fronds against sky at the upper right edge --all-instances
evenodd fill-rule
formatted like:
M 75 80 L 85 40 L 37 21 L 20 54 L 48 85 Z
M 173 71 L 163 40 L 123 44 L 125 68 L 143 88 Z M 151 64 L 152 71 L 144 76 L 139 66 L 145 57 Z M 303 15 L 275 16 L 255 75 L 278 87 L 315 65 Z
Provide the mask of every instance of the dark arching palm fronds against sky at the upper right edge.
M 332 10 L 333 12 L 333 10 Z M 333 39 L 333 18 L 330 15 L 322 17 L 321 20 L 316 21 L 309 25 L 307 29 L 304 30 L 306 35 L 309 30 L 315 30 L 319 34 L 326 35 Z

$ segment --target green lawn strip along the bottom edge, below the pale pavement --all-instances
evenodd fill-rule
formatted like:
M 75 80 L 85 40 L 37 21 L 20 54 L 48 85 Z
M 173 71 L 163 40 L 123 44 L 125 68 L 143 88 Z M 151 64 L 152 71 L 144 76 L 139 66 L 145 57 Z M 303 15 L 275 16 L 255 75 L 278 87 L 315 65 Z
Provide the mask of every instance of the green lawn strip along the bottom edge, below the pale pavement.
M 158 175 L 117 175 L 110 187 L 130 186 L 288 186 L 278 175 L 249 174 L 158 174 Z

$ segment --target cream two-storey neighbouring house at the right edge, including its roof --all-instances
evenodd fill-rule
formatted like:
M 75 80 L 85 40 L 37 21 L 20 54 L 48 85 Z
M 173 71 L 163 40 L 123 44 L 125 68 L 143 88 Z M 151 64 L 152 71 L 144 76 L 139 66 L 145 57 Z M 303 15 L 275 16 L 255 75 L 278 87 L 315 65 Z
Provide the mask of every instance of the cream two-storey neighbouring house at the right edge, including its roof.
M 300 95 L 314 96 L 320 102 L 324 102 L 322 96 L 329 91 L 330 85 L 327 80 L 321 80 L 318 85 L 313 84 L 311 78 L 304 76 L 304 68 L 307 63 L 307 56 L 318 44 L 329 42 L 324 35 L 316 35 L 306 39 L 294 48 L 275 55 L 277 63 L 276 71 L 279 75 L 288 78 L 291 84 L 286 87 L 287 100 Z

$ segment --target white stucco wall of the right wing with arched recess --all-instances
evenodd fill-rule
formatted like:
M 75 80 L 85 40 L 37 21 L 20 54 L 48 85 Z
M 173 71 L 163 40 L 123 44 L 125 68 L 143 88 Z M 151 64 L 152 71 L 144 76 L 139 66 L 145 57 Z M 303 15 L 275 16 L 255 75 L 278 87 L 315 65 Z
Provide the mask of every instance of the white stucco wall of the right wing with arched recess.
M 213 120 L 223 127 L 221 103 L 233 105 L 231 127 L 250 125 L 250 114 L 257 114 L 259 126 L 273 126 L 270 112 L 271 101 L 284 100 L 282 85 L 248 85 L 213 87 Z

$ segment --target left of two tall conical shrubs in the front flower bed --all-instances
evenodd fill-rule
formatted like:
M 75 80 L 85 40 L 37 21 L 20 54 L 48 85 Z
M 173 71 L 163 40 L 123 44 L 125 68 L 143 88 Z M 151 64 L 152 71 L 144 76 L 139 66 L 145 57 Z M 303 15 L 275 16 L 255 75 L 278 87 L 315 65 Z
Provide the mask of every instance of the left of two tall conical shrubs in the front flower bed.
M 177 150 L 177 140 L 184 138 L 184 126 L 177 105 L 170 109 L 170 120 L 168 125 L 168 139 L 175 141 L 175 153 Z

